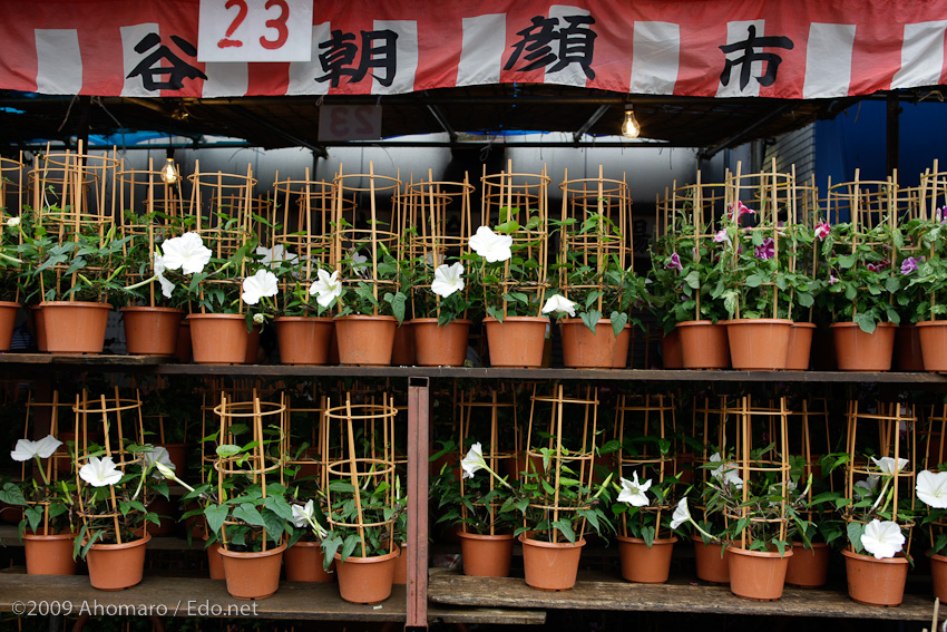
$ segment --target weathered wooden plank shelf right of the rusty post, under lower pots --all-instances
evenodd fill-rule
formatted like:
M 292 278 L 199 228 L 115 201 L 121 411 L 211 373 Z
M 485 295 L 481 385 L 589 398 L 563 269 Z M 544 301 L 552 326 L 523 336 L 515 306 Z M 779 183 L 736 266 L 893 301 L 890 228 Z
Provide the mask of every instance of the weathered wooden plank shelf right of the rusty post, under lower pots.
M 530 589 L 523 578 L 468 577 L 432 570 L 428 597 L 439 605 L 491 605 L 549 610 L 614 610 L 690 614 L 789 615 L 837 619 L 927 621 L 934 597 L 906 594 L 897 607 L 879 607 L 849 599 L 845 586 L 806 590 L 787 586 L 782 599 L 758 602 L 735 596 L 730 587 L 672 577 L 667 584 L 632 584 L 606 573 L 580 572 L 575 587 L 562 592 Z M 947 614 L 947 613 L 944 613 Z

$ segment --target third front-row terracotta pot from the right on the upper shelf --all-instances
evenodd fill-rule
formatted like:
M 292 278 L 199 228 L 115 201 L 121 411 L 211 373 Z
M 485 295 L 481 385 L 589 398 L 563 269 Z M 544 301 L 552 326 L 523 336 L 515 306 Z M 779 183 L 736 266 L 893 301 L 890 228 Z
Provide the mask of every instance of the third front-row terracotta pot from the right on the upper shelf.
M 785 369 L 792 321 L 774 318 L 743 318 L 726 321 L 730 364 L 742 371 Z

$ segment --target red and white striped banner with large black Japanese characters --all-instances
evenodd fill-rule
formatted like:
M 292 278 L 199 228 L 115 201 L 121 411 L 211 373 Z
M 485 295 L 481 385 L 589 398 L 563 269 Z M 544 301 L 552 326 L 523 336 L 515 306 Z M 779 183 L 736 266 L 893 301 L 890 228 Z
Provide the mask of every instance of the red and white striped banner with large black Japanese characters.
M 214 3 L 211 14 L 225 19 L 198 28 Z M 301 7 L 311 9 L 311 43 Z M 385 95 L 526 81 L 821 98 L 947 84 L 947 0 L 0 0 L 0 88 L 45 94 Z M 266 59 L 309 60 L 246 61 L 250 43 Z

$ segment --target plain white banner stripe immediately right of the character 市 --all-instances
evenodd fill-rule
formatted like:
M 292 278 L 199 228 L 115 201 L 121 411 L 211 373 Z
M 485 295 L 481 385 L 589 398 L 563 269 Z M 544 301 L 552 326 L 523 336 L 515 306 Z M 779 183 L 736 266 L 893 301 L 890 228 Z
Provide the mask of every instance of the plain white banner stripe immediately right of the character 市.
M 806 43 L 803 99 L 848 96 L 855 25 L 812 22 Z

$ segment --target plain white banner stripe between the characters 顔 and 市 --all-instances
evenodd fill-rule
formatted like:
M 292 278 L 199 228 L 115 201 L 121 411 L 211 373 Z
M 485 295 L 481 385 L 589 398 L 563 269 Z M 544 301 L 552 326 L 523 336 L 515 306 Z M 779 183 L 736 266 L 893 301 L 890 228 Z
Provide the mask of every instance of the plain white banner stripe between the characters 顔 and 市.
M 680 25 L 635 22 L 629 93 L 673 95 L 680 64 Z

